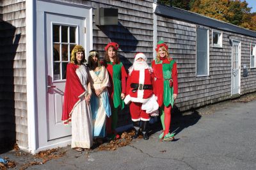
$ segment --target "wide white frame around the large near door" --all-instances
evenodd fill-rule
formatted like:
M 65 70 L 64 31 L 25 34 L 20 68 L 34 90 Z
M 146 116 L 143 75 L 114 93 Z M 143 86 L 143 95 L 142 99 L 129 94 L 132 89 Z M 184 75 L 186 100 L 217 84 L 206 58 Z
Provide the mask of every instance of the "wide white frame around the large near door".
M 55 148 L 57 146 L 67 146 L 70 143 L 71 137 L 64 137 L 53 141 L 47 141 L 47 117 L 46 117 L 46 75 L 45 75 L 45 13 L 56 13 L 61 15 L 69 15 L 74 17 L 83 17 L 86 19 L 86 35 L 84 36 L 84 44 L 86 51 L 89 51 L 93 47 L 93 25 L 92 25 L 92 6 L 86 6 L 83 4 L 66 3 L 63 1 L 49 1 L 49 0 L 37 0 L 35 1 L 35 14 L 36 19 L 33 19 L 33 46 L 35 47 L 35 56 L 32 60 L 32 64 L 29 65 L 28 70 L 33 70 L 34 81 L 29 82 L 28 87 L 33 84 L 35 88 L 35 112 L 31 109 L 28 112 L 28 116 L 31 115 L 28 120 L 28 127 L 31 137 L 28 140 L 31 143 L 29 150 L 32 153 L 36 153 L 41 150 Z M 36 22 L 35 22 L 36 21 Z M 90 28 L 90 29 L 88 29 Z M 31 39 L 31 38 L 30 38 Z M 49 42 L 47 42 L 49 43 Z M 30 47 L 32 45 L 30 44 Z M 30 49 L 29 49 L 30 50 Z M 27 50 L 27 52 L 29 51 Z M 29 53 L 31 54 L 31 52 Z M 31 57 L 31 56 L 30 56 Z M 31 60 L 30 60 L 31 61 Z M 44 75 L 42 75 L 44 73 Z M 29 75 L 29 77 L 31 77 Z M 29 91 L 30 89 L 28 89 Z M 31 101 L 28 103 L 30 107 Z M 34 116 L 34 118 L 33 118 Z M 35 134 L 33 134 L 35 132 Z

